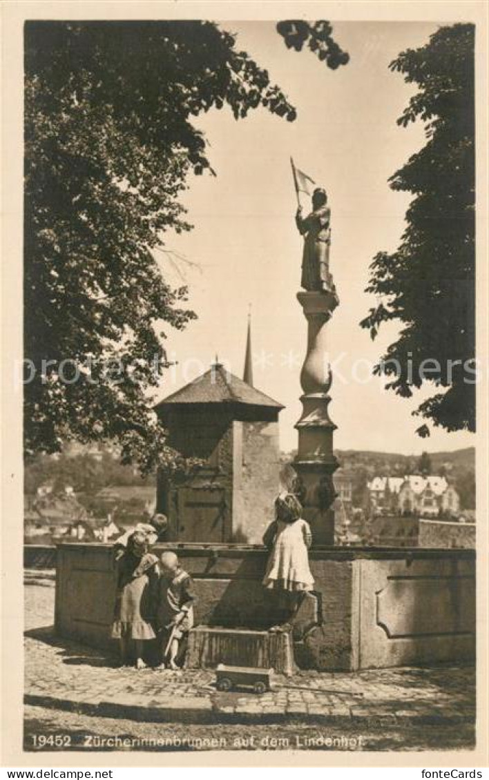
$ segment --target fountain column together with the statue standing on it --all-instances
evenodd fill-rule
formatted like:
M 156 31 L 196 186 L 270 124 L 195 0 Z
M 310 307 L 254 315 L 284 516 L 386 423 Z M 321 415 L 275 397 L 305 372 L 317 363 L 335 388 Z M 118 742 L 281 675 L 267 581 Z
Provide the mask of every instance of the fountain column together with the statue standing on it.
M 313 545 L 334 544 L 336 493 L 332 475 L 338 468 L 333 455 L 335 424 L 328 414 L 331 367 L 327 359 L 326 326 L 339 300 L 329 271 L 331 211 L 325 190 L 314 190 L 313 208 L 303 217 L 299 206 L 296 225 L 304 236 L 301 286 L 297 300 L 307 319 L 307 354 L 300 374 L 303 413 L 296 423 L 299 445 L 293 463 L 296 493 L 303 516 L 310 523 Z

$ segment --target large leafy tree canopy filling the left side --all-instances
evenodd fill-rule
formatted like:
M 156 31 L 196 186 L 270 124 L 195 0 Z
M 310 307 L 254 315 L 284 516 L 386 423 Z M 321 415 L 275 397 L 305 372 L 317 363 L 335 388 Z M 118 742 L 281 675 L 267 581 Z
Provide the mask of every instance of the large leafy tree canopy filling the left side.
M 235 43 L 199 21 L 27 23 L 27 456 L 100 439 L 143 470 L 178 463 L 148 395 L 168 367 L 155 323 L 182 329 L 195 314 L 153 252 L 191 227 L 189 172 L 211 172 L 193 118 L 263 106 L 296 119 Z

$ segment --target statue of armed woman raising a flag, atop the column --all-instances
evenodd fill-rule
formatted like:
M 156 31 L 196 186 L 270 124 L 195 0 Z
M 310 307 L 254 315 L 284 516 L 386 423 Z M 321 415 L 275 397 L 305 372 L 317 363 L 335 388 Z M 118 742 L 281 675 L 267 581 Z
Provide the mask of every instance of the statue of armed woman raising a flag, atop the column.
M 292 172 L 297 193 L 296 225 L 304 236 L 301 286 L 314 292 L 335 293 L 335 285 L 329 272 L 329 247 L 331 244 L 331 210 L 326 190 L 317 187 L 313 192 L 313 208 L 307 217 L 302 215 L 299 190 L 310 194 L 309 176 L 299 171 L 292 162 Z

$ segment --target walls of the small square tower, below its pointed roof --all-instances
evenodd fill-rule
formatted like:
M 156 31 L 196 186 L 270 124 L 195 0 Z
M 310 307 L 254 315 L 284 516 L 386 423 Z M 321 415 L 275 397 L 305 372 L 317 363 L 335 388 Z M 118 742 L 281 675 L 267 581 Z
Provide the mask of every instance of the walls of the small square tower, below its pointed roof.
M 168 429 L 171 446 L 206 461 L 186 479 L 158 480 L 168 541 L 261 544 L 278 493 L 278 420 L 236 420 L 231 410 L 207 408 L 175 413 Z

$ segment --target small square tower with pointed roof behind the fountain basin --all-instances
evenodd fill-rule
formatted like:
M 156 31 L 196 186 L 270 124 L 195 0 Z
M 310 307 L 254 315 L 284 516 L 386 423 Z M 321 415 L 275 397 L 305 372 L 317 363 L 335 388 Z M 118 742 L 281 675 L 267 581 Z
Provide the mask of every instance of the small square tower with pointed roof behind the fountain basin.
M 203 461 L 189 477 L 158 477 L 168 541 L 261 543 L 279 487 L 282 409 L 217 361 L 158 403 L 168 445 Z

